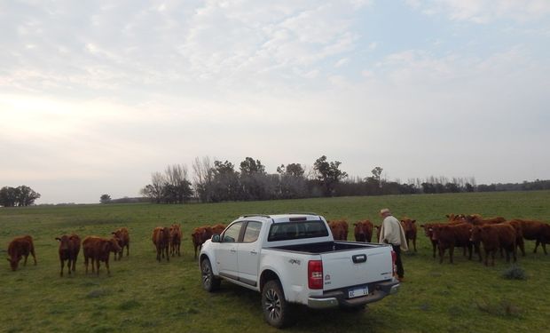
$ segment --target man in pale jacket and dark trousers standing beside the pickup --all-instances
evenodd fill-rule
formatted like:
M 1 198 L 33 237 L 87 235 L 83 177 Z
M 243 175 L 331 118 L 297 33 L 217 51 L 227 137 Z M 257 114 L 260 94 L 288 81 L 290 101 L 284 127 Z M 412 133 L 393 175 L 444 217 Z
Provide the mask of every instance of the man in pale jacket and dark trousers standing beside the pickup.
M 401 261 L 401 250 L 409 250 L 405 240 L 405 231 L 399 220 L 391 215 L 389 209 L 380 210 L 380 216 L 383 221 L 378 242 L 390 244 L 396 252 L 397 280 L 404 281 L 405 270 Z

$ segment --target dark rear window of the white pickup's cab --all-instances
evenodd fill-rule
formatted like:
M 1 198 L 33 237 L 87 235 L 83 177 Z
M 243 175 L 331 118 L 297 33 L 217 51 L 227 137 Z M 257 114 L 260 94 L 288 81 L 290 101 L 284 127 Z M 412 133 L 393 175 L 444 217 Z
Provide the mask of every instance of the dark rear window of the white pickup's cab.
M 326 237 L 328 230 L 321 220 L 275 223 L 270 227 L 268 242 Z

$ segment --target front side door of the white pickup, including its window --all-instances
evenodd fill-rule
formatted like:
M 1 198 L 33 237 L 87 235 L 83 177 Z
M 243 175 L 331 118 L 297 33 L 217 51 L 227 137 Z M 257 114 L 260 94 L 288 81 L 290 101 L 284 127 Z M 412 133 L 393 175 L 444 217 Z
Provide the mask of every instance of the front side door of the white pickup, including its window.
M 244 222 L 235 222 L 225 229 L 221 235 L 221 242 L 216 252 L 216 265 L 219 274 L 233 280 L 239 279 L 237 265 L 237 246 L 239 242 L 240 229 Z

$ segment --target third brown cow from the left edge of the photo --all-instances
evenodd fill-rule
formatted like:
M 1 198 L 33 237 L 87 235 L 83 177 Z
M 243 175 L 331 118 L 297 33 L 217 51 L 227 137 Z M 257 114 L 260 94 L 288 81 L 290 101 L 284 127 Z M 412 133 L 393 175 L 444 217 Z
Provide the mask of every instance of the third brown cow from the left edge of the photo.
M 99 275 L 99 262 L 105 262 L 107 274 L 111 275 L 109 269 L 109 256 L 111 252 L 117 253 L 121 251 L 118 241 L 114 238 L 102 238 L 97 236 L 88 236 L 83 240 L 84 265 L 86 266 L 86 274 L 88 274 L 88 262 L 91 260 L 91 273 Z M 95 267 L 94 267 L 95 264 Z

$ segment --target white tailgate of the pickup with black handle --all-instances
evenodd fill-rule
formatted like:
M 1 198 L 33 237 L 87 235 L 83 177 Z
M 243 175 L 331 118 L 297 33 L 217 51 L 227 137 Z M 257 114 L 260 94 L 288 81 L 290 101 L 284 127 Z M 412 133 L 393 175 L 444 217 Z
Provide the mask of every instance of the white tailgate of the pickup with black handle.
M 325 290 L 364 285 L 392 277 L 390 247 L 342 250 L 321 254 Z

